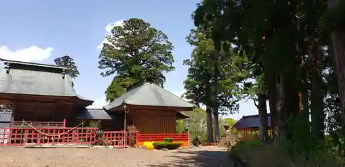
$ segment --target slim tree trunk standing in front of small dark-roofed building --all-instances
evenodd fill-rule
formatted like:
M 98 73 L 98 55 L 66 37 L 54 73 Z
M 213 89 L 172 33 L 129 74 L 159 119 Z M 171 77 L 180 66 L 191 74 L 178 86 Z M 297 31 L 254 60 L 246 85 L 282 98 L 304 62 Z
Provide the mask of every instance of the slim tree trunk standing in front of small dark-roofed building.
M 260 139 L 267 141 L 268 139 L 268 118 L 267 118 L 267 107 L 266 107 L 266 94 L 260 93 L 257 94 L 258 104 L 257 109 L 259 110 L 259 120 L 260 120 Z

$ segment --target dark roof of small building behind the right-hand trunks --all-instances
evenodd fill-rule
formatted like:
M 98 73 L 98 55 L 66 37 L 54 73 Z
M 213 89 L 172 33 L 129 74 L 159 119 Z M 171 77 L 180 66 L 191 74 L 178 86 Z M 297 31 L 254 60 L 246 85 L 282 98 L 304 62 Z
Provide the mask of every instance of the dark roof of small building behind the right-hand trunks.
M 267 113 L 267 124 L 270 126 L 270 113 Z M 260 120 L 259 115 L 248 115 L 243 116 L 240 120 L 234 124 L 234 128 L 236 129 L 254 129 L 259 128 Z

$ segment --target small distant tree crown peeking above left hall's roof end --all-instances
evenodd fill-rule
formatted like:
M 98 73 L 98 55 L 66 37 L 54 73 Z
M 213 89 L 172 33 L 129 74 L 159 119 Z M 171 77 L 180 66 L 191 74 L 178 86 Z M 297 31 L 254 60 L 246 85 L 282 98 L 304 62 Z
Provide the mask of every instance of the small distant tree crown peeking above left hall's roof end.
M 75 60 L 70 56 L 62 56 L 55 58 L 54 62 L 57 66 L 67 67 L 66 74 L 71 78 L 77 78 L 79 76 L 79 71 Z

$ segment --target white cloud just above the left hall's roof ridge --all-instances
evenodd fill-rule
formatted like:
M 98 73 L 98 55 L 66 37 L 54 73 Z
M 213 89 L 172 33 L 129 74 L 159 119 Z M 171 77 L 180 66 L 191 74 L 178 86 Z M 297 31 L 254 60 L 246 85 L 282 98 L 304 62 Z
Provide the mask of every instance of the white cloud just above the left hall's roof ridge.
M 52 55 L 52 47 L 41 49 L 37 46 L 31 46 L 26 49 L 19 49 L 12 51 L 7 46 L 0 47 L 0 58 L 17 61 L 42 61 Z

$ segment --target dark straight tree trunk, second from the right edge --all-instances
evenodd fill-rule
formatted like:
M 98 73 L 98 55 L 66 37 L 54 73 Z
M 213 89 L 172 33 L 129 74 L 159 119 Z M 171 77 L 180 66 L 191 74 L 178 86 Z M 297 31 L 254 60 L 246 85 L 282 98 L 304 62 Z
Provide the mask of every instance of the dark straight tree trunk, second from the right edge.
M 316 40 L 311 47 L 313 67 L 311 69 L 311 131 L 313 136 L 324 139 L 324 93 L 322 91 L 322 55 Z

